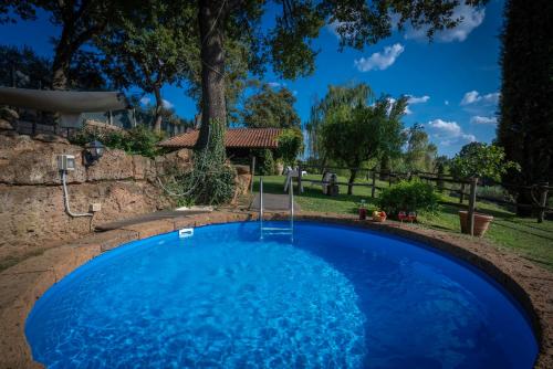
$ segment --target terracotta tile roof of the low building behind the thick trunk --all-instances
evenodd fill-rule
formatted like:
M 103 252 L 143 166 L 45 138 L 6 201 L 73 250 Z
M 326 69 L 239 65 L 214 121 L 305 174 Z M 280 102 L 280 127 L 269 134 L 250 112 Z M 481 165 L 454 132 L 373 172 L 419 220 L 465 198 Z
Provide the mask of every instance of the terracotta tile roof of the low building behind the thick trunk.
M 269 148 L 274 149 L 279 145 L 276 137 L 281 134 L 281 128 L 229 128 L 225 135 L 225 146 L 227 148 Z M 192 148 L 198 140 L 199 130 L 189 130 L 177 135 L 159 146 L 168 148 Z

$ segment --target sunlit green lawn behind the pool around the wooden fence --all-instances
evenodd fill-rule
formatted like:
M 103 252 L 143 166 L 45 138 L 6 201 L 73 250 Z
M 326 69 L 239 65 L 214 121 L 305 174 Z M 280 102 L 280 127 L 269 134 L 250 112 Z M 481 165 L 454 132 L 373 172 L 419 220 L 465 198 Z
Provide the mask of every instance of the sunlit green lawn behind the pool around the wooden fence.
M 306 176 L 306 179 L 321 180 L 320 175 Z M 346 182 L 343 177 L 338 181 Z M 356 182 L 364 182 L 364 179 Z M 283 176 L 264 176 L 263 190 L 265 193 L 283 193 Z M 377 187 L 387 187 L 387 182 L 377 181 Z M 259 177 L 255 177 L 254 191 L 259 191 Z M 371 198 L 369 187 L 354 187 L 354 194 L 347 196 L 347 187 L 341 186 L 340 196 L 327 197 L 321 191 L 320 184 L 304 182 L 304 193 L 295 197 L 296 203 L 304 211 L 356 214 L 362 199 L 373 211 L 377 208 L 377 199 Z M 376 191 L 378 197 L 378 191 Z M 466 204 L 465 204 L 466 207 Z M 514 213 L 493 203 L 478 202 L 478 211 L 491 214 L 494 220 L 484 235 L 492 244 L 500 249 L 510 249 L 523 257 L 553 270 L 553 222 L 538 223 L 535 219 L 518 218 Z M 419 223 L 424 226 L 460 233 L 457 212 L 463 205 L 459 199 L 442 196 L 442 203 L 437 214 L 419 214 Z

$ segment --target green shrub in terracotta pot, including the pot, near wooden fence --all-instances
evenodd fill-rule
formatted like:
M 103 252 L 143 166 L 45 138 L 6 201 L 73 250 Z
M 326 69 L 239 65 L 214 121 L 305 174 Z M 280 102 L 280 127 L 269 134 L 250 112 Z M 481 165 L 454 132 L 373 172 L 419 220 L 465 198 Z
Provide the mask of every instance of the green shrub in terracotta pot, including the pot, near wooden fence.
M 499 181 L 501 175 L 504 175 L 509 169 L 519 170 L 519 165 L 507 161 L 503 148 L 495 145 L 480 143 L 465 145 L 451 160 L 451 173 L 459 179 L 476 179 L 478 181 L 479 178 L 490 178 Z M 459 211 L 459 221 L 461 232 L 470 233 L 468 211 Z M 474 213 L 473 234 L 482 236 L 492 221 L 493 217 L 491 215 Z

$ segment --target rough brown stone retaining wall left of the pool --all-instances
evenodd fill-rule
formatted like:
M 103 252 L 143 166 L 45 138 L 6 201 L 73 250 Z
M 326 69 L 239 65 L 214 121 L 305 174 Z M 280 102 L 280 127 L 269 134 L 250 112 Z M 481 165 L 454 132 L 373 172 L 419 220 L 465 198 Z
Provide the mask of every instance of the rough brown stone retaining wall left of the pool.
M 56 161 L 60 154 L 74 155 L 76 161 L 75 170 L 67 172 L 71 210 L 85 213 L 92 203 L 100 203 L 102 210 L 93 218 L 66 213 Z M 191 165 L 189 151 L 153 160 L 108 149 L 86 167 L 83 148 L 62 138 L 0 135 L 0 257 L 6 247 L 13 251 L 13 246 L 67 240 L 88 233 L 94 224 L 170 207 L 170 199 L 156 186 L 156 176 L 175 165 Z

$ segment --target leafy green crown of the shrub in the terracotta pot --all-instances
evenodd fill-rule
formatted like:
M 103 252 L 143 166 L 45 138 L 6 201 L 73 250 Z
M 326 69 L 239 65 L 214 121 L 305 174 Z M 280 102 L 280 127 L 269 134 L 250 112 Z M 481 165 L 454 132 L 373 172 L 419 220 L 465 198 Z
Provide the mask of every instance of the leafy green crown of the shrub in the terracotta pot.
M 461 179 L 478 177 L 499 181 L 501 175 L 520 167 L 505 160 L 502 147 L 480 143 L 465 145 L 451 160 L 451 173 Z

